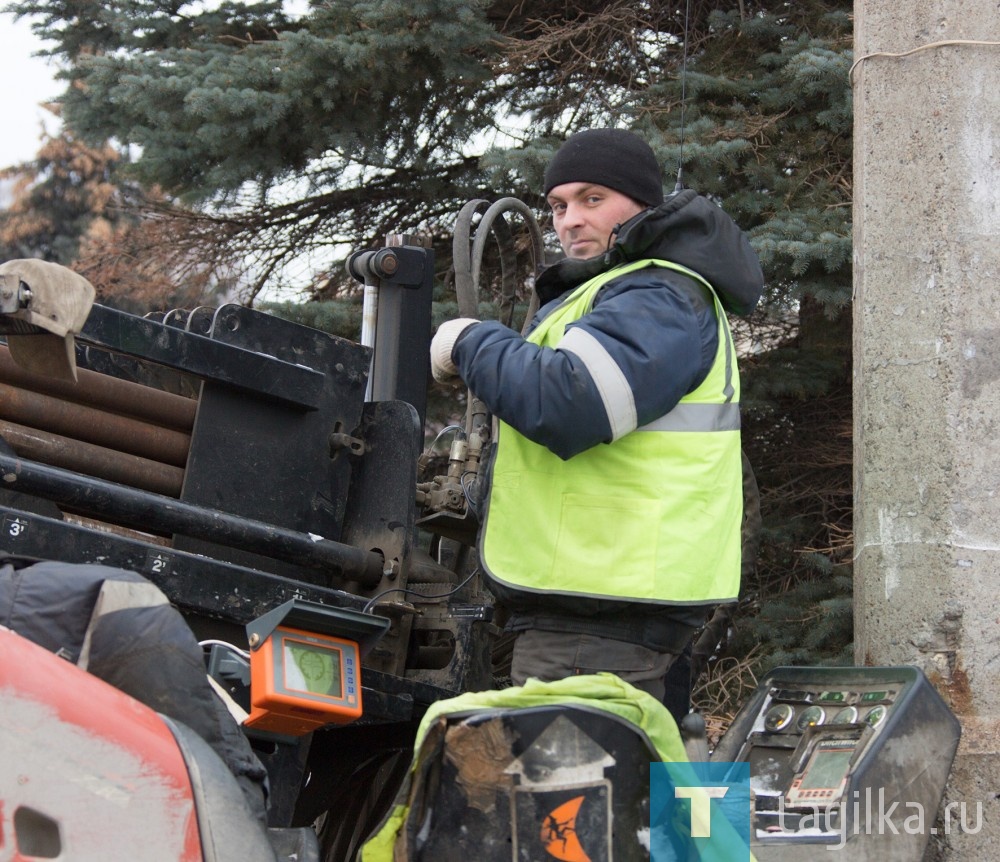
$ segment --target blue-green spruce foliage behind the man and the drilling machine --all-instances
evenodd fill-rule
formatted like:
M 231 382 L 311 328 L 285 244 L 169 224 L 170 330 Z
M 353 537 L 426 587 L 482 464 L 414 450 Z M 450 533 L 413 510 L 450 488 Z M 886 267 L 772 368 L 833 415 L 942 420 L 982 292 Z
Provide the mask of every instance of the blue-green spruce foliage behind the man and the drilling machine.
M 8 9 L 33 16 L 70 63 L 72 133 L 114 141 L 129 154 L 122 171 L 178 202 L 157 211 L 183 226 L 166 271 L 205 260 L 235 279 L 245 268 L 251 297 L 294 282 L 326 301 L 276 312 L 347 337 L 360 299 L 338 258 L 388 232 L 427 232 L 435 320 L 454 316 L 448 236 L 464 203 L 540 206 L 543 167 L 567 133 L 643 133 L 668 181 L 682 167 L 685 185 L 749 232 L 768 279 L 761 309 L 737 329 L 750 351 L 745 448 L 765 531 L 736 640 L 720 655 L 755 643 L 758 672 L 848 660 L 848 0 Z

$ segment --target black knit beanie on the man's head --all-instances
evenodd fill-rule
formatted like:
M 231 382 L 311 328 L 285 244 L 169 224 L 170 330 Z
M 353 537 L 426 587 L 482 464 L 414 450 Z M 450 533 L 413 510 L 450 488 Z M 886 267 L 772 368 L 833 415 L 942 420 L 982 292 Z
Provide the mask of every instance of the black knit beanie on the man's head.
M 596 183 L 647 206 L 663 203 L 660 164 L 638 135 L 587 129 L 570 135 L 545 170 L 545 194 L 563 183 Z

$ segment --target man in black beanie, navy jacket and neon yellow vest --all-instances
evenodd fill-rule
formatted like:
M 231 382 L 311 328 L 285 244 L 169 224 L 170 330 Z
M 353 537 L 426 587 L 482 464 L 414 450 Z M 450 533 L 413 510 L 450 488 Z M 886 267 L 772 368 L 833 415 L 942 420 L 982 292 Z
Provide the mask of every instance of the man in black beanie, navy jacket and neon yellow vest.
M 545 173 L 566 258 L 526 337 L 442 324 L 439 381 L 498 420 L 480 560 L 518 632 L 512 680 L 611 671 L 657 698 L 739 591 L 739 377 L 726 311 L 763 289 L 736 224 L 619 129 L 571 136 Z

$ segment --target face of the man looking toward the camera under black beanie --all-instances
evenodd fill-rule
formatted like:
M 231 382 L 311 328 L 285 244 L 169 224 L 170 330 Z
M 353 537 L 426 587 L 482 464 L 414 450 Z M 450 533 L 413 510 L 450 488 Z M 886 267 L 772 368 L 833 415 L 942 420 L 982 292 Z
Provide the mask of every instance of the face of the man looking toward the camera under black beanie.
M 546 200 L 563 251 L 581 260 L 602 254 L 615 225 L 646 209 L 628 195 L 594 183 L 563 183 Z

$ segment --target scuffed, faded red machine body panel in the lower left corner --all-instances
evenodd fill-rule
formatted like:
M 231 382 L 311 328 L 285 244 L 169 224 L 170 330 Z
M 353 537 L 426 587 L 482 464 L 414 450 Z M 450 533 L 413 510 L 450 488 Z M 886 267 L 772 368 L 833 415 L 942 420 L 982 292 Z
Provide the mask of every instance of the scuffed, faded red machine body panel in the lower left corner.
M 0 627 L 0 860 L 202 862 L 184 756 L 157 713 Z

